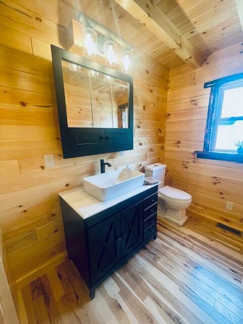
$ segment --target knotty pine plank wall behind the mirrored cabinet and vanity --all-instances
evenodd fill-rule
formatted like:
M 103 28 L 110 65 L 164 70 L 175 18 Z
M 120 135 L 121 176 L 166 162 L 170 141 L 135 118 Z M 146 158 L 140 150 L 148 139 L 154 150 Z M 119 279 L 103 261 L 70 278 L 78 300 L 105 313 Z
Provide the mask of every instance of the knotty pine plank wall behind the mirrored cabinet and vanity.
M 57 194 L 98 172 L 99 158 L 136 170 L 164 160 L 169 70 L 139 51 L 133 72 L 134 150 L 62 158 L 50 44 L 66 46 L 65 27 L 78 12 L 68 3 L 0 4 L 0 226 L 12 282 L 66 257 Z M 55 168 L 45 168 L 44 154 L 55 154 Z

